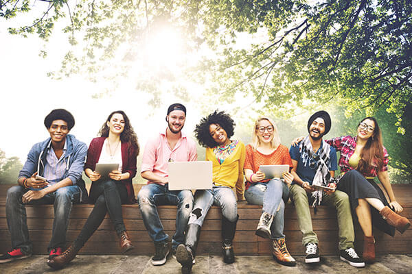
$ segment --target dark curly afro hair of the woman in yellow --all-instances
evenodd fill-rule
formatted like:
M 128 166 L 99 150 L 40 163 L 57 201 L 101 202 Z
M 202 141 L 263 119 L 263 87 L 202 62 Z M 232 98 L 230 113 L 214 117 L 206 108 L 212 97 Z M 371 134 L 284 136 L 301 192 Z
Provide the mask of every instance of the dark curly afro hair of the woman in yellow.
M 215 110 L 212 114 L 209 114 L 206 117 L 201 119 L 201 122 L 196 125 L 196 129 L 194 129 L 194 135 L 199 142 L 199 145 L 202 147 L 217 147 L 218 143 L 213 140 L 210 136 L 209 126 L 211 124 L 220 125 L 227 134 L 227 138 L 231 138 L 235 131 L 236 123 L 231 119 L 229 114 L 218 110 Z

